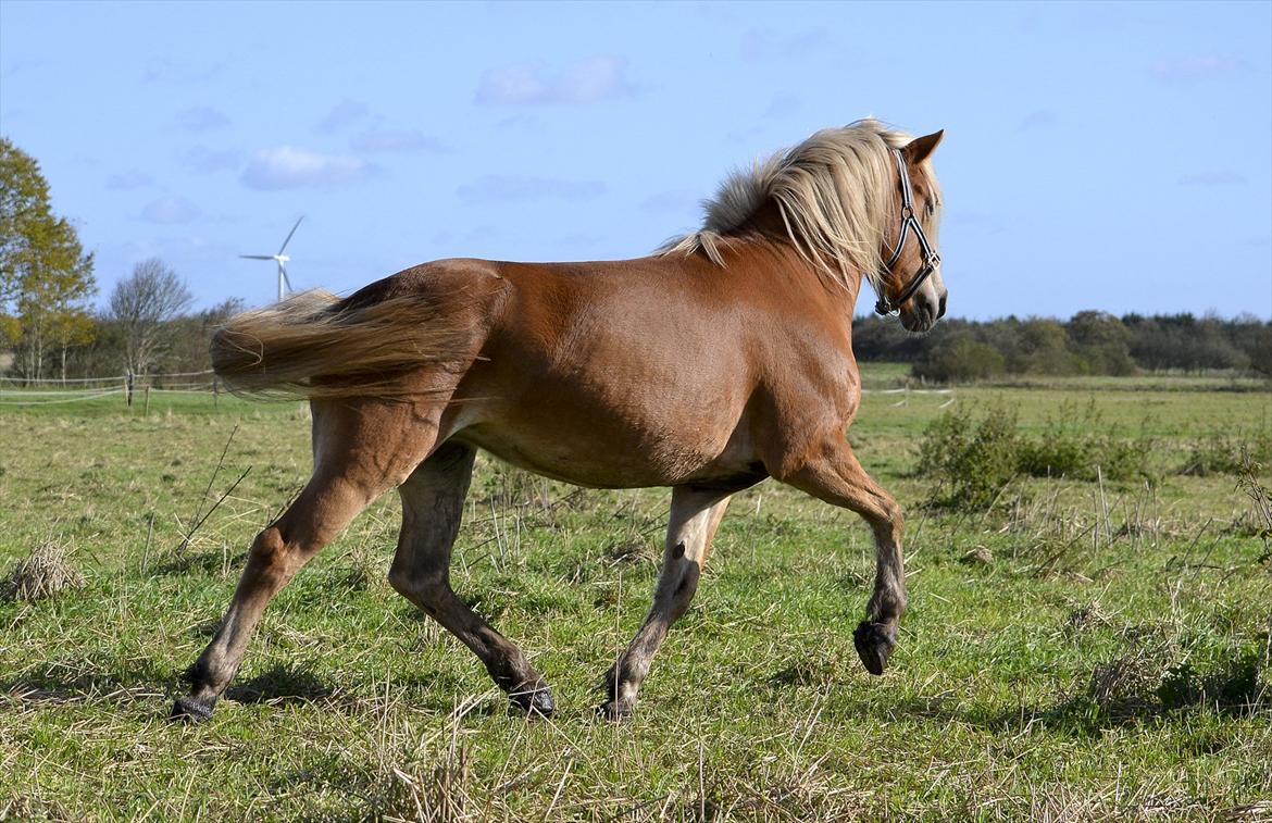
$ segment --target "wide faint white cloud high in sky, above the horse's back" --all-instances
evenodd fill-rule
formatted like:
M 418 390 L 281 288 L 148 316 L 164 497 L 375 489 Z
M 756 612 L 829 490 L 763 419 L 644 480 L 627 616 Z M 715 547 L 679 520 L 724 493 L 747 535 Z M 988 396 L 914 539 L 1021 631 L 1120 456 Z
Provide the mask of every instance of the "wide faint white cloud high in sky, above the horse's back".
M 577 106 L 631 97 L 637 92 L 627 79 L 622 57 L 591 57 L 558 71 L 539 62 L 492 69 L 477 86 L 478 103 Z

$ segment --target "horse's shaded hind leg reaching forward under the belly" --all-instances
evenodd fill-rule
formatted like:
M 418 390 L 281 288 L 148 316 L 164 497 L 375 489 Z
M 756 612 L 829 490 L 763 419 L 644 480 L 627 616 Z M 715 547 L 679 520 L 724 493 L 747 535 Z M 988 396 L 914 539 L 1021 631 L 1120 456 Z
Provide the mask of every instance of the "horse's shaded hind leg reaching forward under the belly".
M 550 715 L 552 693 L 525 654 L 450 588 L 450 548 L 459 530 L 476 450 L 448 443 L 402 483 L 402 534 L 389 583 L 476 654 L 514 703 Z

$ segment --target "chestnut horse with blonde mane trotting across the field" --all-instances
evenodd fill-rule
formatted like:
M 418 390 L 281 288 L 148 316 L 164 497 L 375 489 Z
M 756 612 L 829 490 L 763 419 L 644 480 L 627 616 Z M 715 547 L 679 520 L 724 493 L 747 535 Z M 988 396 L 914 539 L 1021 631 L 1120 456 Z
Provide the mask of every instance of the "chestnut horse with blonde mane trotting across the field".
M 303 293 L 228 321 L 211 343 L 216 374 L 242 394 L 308 399 L 313 474 L 252 542 L 172 716 L 211 716 L 270 599 L 394 487 L 393 589 L 463 641 L 514 706 L 551 715 L 543 675 L 450 586 L 478 449 L 579 486 L 672 490 L 653 604 L 604 677 L 604 716 L 631 715 L 730 496 L 766 478 L 873 529 L 874 590 L 854 644 L 881 674 L 907 604 L 904 522 L 848 445 L 861 398 L 851 326 L 862 281 L 908 331 L 945 313 L 931 167 L 943 135 L 875 120 L 819 131 L 734 172 L 697 232 L 647 257 L 440 259 L 343 299 Z

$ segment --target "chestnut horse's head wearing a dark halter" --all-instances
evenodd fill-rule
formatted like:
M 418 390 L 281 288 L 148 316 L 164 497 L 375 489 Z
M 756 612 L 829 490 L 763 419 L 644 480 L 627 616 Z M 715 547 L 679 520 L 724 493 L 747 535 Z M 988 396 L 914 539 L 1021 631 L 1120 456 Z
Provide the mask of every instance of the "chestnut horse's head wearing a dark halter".
M 885 234 L 884 271 L 879 277 L 879 314 L 901 314 L 901 324 L 926 332 L 945 314 L 948 291 L 936 253 L 940 188 L 930 158 L 945 131 L 918 137 L 893 150 L 897 160 L 897 221 Z

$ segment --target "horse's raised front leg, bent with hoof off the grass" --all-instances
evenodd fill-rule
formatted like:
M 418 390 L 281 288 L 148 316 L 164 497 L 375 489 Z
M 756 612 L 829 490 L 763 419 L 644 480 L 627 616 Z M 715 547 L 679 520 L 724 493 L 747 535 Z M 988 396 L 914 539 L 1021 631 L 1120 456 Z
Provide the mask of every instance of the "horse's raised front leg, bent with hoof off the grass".
M 813 450 L 780 480 L 832 505 L 860 514 L 875 537 L 875 585 L 866 619 L 852 633 L 861 663 L 871 674 L 883 674 L 897 644 L 897 622 L 906 611 L 906 569 L 902 552 L 904 520 L 901 506 L 857 462 L 841 434 Z

